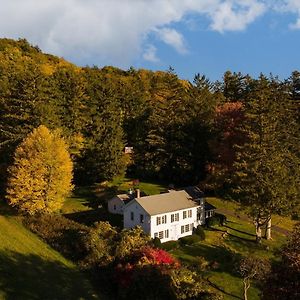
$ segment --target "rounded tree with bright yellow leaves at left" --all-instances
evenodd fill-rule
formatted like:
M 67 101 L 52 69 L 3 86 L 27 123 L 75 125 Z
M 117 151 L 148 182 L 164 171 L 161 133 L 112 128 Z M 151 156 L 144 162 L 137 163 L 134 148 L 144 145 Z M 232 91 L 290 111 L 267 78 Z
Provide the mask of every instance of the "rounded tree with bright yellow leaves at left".
M 58 211 L 71 192 L 73 164 L 58 131 L 41 125 L 17 147 L 9 168 L 6 198 L 19 211 Z

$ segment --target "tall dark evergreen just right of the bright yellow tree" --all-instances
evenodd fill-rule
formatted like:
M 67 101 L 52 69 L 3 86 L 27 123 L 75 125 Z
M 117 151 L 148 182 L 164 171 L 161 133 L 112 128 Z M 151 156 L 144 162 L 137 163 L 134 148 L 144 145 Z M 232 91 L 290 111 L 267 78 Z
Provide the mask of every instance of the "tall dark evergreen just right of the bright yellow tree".
M 125 169 L 121 105 L 97 68 L 85 70 L 88 122 L 82 131 L 85 148 L 78 161 L 79 179 L 110 180 Z

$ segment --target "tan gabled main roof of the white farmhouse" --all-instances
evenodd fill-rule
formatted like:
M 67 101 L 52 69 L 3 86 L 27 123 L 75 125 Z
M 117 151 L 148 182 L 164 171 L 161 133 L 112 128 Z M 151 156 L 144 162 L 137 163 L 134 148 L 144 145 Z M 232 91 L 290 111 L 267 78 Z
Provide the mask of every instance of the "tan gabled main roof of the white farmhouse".
M 152 216 L 199 206 L 186 191 L 172 191 L 135 200 Z

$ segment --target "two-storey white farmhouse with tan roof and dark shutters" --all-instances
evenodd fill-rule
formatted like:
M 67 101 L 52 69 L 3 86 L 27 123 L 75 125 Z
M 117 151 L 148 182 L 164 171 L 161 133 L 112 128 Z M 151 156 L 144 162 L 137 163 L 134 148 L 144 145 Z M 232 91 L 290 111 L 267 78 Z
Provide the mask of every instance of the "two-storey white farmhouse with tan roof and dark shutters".
M 193 187 L 137 197 L 124 206 L 124 228 L 139 225 L 152 238 L 158 237 L 162 242 L 178 240 L 191 235 L 194 227 L 204 224 L 214 209 L 212 205 L 205 205 Z

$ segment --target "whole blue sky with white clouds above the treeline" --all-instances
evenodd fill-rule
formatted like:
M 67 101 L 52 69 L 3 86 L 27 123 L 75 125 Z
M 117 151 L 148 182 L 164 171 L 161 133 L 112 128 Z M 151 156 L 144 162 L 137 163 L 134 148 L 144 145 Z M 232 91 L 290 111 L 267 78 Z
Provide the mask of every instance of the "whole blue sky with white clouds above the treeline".
M 0 0 L 0 37 L 79 66 L 284 79 L 300 69 L 300 0 Z

